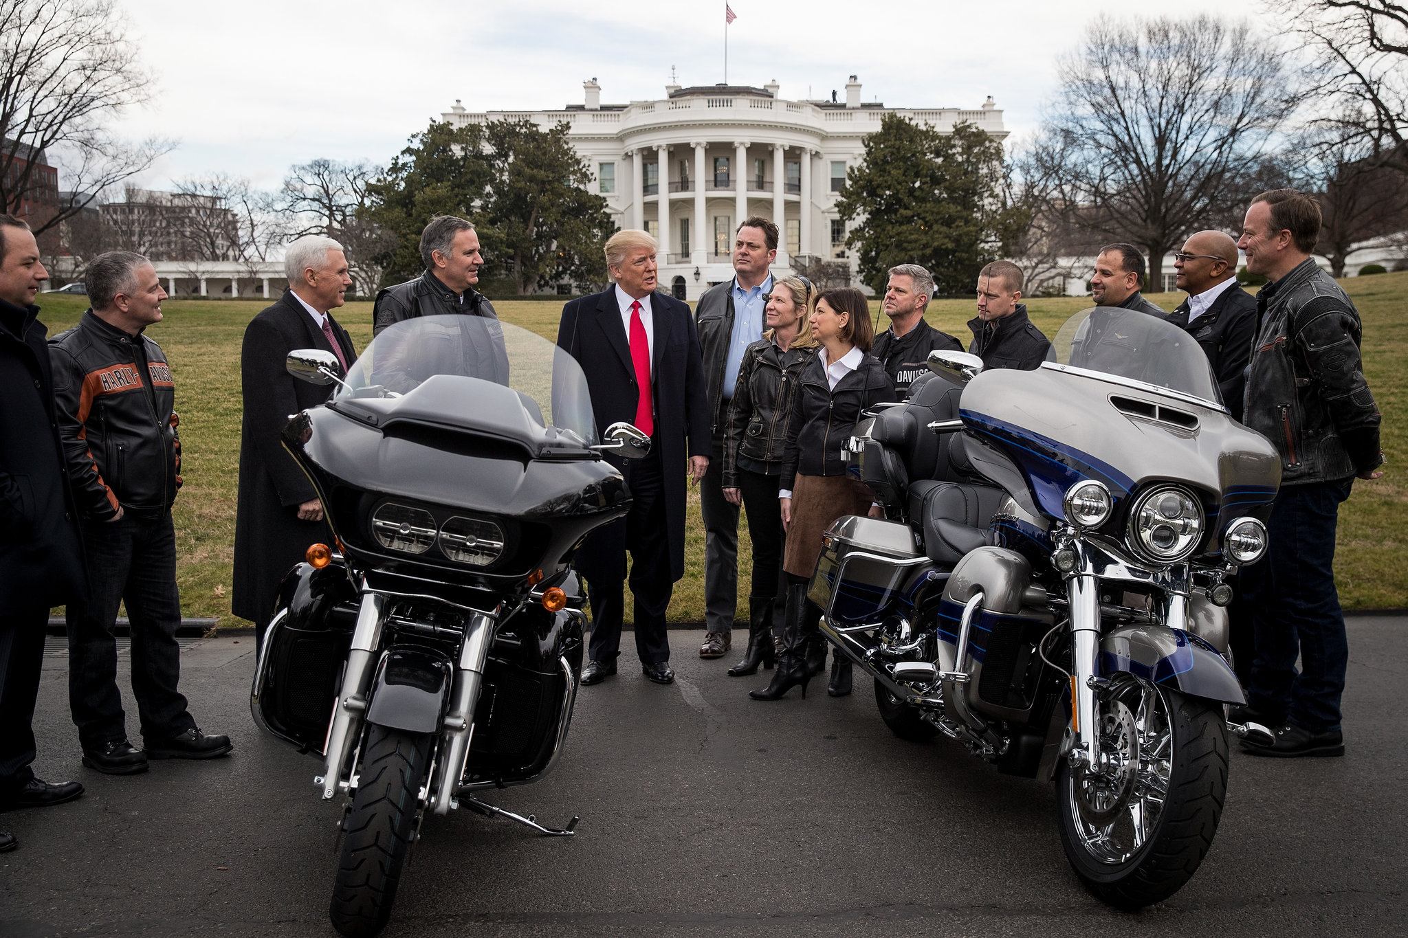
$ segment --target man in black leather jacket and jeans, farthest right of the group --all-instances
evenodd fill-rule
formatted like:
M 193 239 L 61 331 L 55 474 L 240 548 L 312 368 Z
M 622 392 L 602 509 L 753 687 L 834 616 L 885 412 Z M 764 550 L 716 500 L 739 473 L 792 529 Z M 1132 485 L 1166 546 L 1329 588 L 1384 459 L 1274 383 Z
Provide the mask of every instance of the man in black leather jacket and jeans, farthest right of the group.
M 1319 229 L 1319 204 L 1278 188 L 1253 200 L 1238 242 L 1246 269 L 1270 278 L 1256 295 L 1243 418 L 1281 457 L 1267 553 L 1239 577 L 1256 658 L 1247 705 L 1229 719 L 1274 727 L 1271 745 L 1243 743 L 1257 755 L 1345 754 L 1349 643 L 1335 592 L 1335 527 L 1354 478 L 1383 475 L 1359 312 L 1311 257 Z

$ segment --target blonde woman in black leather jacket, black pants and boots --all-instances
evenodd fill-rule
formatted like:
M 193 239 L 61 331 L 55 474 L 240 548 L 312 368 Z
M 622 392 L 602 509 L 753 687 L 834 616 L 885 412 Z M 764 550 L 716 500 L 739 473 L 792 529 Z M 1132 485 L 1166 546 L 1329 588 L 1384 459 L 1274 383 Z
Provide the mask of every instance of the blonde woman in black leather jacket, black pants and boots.
M 781 615 L 776 603 L 783 560 L 783 518 L 777 482 L 791 419 L 793 395 L 803 368 L 817 354 L 811 312 L 817 288 L 805 277 L 773 284 L 765 298 L 767 330 L 762 342 L 743 350 L 738 384 L 724 423 L 724 498 L 748 509 L 748 537 L 753 544 L 753 577 L 748 591 L 748 651 L 728 669 L 738 678 L 773 667 L 781 651 Z M 776 645 L 774 645 L 776 643 Z

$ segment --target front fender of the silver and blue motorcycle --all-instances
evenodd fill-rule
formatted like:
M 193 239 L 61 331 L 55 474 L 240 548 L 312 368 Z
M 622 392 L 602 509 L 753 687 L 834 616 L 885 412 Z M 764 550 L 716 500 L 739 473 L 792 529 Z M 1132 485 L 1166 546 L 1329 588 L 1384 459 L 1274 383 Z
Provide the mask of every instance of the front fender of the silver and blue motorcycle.
M 1124 626 L 1100 640 L 1100 674 L 1121 671 L 1194 698 L 1246 703 L 1232 668 L 1208 643 L 1166 626 Z

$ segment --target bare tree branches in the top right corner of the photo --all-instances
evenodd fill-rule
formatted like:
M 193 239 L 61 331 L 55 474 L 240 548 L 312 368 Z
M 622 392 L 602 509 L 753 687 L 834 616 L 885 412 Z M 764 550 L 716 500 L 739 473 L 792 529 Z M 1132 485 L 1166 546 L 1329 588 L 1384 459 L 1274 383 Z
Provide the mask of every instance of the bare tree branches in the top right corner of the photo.
M 1366 170 L 1408 173 L 1408 4 L 1298 0 L 1286 18 L 1314 58 L 1307 100 L 1318 103 L 1311 127 L 1321 148 L 1354 150 Z

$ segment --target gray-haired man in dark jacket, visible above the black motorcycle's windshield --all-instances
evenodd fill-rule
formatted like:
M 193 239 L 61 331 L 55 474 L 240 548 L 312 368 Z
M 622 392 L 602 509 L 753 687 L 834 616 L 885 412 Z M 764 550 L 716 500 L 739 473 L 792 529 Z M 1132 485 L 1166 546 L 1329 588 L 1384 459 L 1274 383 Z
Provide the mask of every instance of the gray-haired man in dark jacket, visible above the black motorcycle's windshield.
M 436 215 L 421 232 L 425 273 L 376 294 L 372 335 L 415 316 L 467 315 L 497 319 L 494 305 L 470 287 L 479 283 L 484 257 L 474 225 L 458 215 Z

